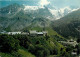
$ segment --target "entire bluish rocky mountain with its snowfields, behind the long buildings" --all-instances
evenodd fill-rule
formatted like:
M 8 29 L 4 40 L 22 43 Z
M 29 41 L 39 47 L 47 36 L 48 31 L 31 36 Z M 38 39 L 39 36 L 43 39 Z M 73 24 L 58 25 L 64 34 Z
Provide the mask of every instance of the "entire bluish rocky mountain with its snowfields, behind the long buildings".
M 77 8 L 71 9 L 65 7 L 57 9 L 49 6 L 25 6 L 12 4 L 0 8 L 0 30 L 22 30 L 28 26 L 48 27 L 51 21 L 76 11 Z

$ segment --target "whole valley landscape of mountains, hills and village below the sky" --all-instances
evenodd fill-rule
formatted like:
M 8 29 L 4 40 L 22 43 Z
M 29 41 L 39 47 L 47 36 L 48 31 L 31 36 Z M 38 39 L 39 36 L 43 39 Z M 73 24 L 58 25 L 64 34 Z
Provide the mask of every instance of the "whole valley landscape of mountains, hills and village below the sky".
M 0 8 L 0 57 L 79 56 L 79 8 L 17 3 Z

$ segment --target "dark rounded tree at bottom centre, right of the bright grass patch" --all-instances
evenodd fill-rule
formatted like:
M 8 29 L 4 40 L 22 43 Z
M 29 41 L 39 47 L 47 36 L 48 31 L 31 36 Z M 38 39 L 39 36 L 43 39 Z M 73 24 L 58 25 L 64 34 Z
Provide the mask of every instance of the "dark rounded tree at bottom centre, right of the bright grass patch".
M 41 45 L 36 45 L 35 49 L 35 55 L 37 57 L 48 57 L 50 55 L 50 51 Z

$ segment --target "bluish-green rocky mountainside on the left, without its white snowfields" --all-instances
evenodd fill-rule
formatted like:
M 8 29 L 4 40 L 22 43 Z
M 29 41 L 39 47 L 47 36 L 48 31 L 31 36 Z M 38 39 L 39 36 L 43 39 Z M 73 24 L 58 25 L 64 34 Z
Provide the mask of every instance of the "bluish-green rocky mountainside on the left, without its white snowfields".
M 30 11 L 24 9 L 25 6 L 19 4 L 0 8 L 0 30 L 18 31 L 30 26 L 49 27 L 51 21 L 56 20 L 56 17 L 51 14 L 47 6 Z

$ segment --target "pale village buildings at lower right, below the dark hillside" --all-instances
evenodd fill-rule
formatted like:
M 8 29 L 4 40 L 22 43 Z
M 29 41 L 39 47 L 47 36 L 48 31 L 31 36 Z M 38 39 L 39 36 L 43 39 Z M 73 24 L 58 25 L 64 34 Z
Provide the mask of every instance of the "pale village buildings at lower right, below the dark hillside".
M 76 49 L 76 45 L 78 45 L 77 41 L 73 40 L 73 39 L 69 39 L 67 41 L 58 41 L 59 43 L 61 43 L 62 45 L 64 45 L 65 47 L 67 46 L 73 46 L 73 51 L 71 52 L 72 55 L 76 56 L 77 55 L 77 49 Z

